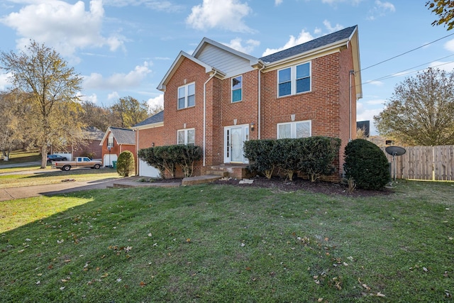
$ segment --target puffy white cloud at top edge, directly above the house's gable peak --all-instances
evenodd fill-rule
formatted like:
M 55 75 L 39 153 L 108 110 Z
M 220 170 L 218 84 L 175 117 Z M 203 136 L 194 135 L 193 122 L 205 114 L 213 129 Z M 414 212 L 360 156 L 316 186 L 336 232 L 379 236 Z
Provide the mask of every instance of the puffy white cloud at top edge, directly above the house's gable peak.
M 252 9 L 247 3 L 239 0 L 204 0 L 201 5 L 192 7 L 192 13 L 186 23 L 198 30 L 222 28 L 233 32 L 253 32 L 245 25 L 243 18 L 248 16 Z

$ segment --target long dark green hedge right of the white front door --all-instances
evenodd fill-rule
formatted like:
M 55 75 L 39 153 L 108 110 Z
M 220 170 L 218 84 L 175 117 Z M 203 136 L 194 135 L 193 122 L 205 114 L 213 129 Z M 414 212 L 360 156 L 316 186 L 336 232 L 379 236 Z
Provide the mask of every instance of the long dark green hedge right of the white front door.
M 262 172 L 268 179 L 277 169 L 284 170 L 289 180 L 301 172 L 314 182 L 332 175 L 333 160 L 339 154 L 341 139 L 314 136 L 298 139 L 252 140 L 244 145 L 250 170 Z

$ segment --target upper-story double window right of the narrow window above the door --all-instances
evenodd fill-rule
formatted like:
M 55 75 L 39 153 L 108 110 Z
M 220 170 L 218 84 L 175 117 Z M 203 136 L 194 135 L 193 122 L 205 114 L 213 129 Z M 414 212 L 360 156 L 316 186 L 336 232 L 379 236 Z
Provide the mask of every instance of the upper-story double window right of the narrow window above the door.
M 311 91 L 311 63 L 284 68 L 277 72 L 277 96 Z

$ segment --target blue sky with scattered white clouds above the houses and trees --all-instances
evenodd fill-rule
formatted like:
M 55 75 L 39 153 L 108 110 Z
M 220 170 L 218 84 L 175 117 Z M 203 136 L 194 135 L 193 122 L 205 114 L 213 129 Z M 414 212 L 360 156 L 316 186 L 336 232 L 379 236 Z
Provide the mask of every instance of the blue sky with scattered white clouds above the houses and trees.
M 426 0 L 3 0 L 0 50 L 17 52 L 30 39 L 45 43 L 84 77 L 83 99 L 109 106 L 131 96 L 154 106 L 162 104 L 156 87 L 179 51 L 191 54 L 204 37 L 262 57 L 358 25 L 363 97 L 357 119 L 370 120 L 372 126 L 372 117 L 405 77 L 429 66 L 454 68 L 454 32 L 431 26 L 436 16 L 425 4 Z M 7 86 L 7 75 L 0 70 L 0 89 Z

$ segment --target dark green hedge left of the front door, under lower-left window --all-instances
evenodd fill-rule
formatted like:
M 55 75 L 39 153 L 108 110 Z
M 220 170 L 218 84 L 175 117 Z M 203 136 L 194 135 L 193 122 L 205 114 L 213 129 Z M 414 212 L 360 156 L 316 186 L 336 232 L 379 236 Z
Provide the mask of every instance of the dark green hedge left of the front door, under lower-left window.
M 184 177 L 191 177 L 194 162 L 201 159 L 202 150 L 196 145 L 165 145 L 139 150 L 138 157 L 159 170 L 162 179 L 165 172 L 175 177 L 176 167 L 182 167 Z

